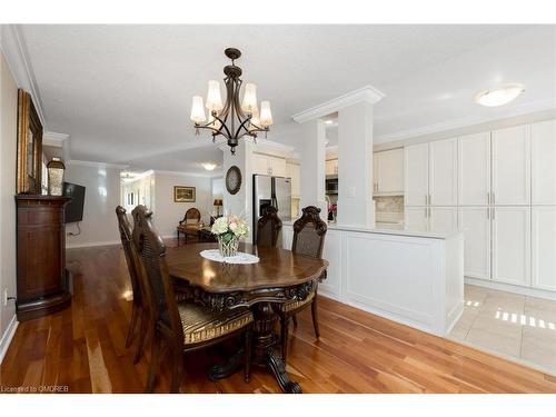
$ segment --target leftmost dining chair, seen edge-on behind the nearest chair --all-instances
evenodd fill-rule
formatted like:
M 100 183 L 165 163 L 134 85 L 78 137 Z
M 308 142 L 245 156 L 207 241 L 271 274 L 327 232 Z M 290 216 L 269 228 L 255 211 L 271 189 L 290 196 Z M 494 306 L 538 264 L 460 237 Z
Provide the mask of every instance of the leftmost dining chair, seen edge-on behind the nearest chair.
M 137 251 L 133 247 L 131 225 L 129 224 L 126 209 L 121 206 L 116 207 L 116 216 L 118 217 L 118 230 L 120 231 L 121 246 L 123 248 L 123 255 L 126 256 L 126 264 L 128 266 L 129 277 L 131 280 L 131 292 L 133 295 L 131 320 L 126 336 L 126 347 L 129 348 L 131 346 L 136 327 L 139 322 L 139 344 L 137 353 L 133 357 L 133 364 L 137 364 L 142 356 L 148 324 L 148 306 L 146 302 L 145 289 L 142 288 L 142 281 L 139 278 L 140 271 L 138 269 Z

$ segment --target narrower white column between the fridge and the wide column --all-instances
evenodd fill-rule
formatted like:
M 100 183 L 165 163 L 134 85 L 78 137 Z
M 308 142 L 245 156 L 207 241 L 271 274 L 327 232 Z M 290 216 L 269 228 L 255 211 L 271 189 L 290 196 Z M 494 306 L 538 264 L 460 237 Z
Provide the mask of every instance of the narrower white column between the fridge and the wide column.
M 301 125 L 301 196 L 300 209 L 307 206 L 320 208 L 320 218 L 327 220 L 325 200 L 326 129 L 322 119 Z

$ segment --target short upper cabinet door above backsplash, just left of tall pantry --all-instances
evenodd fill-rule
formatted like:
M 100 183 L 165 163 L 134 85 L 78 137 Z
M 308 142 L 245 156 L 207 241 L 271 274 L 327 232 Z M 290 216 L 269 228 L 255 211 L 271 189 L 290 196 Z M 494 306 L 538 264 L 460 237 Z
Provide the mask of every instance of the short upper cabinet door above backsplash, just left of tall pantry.
M 376 153 L 379 193 L 404 192 L 404 150 L 393 149 Z

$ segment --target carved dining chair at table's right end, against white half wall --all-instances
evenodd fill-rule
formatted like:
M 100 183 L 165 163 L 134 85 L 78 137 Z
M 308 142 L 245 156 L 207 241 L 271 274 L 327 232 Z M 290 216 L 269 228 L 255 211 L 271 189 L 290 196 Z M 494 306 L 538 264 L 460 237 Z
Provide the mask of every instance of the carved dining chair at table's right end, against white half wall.
M 322 248 L 325 246 L 325 236 L 327 225 L 320 219 L 320 209 L 315 206 L 308 206 L 301 209 L 302 215 L 294 222 L 294 241 L 291 251 L 298 255 L 310 256 L 312 258 L 322 257 Z M 290 318 L 294 325 L 297 326 L 296 315 L 302 309 L 311 306 L 312 326 L 317 339 L 320 336 L 318 328 L 318 311 L 317 311 L 317 289 L 315 287 L 305 300 L 289 301 L 280 305 L 280 325 L 281 325 L 281 341 L 282 357 L 286 360 L 288 354 L 288 326 Z

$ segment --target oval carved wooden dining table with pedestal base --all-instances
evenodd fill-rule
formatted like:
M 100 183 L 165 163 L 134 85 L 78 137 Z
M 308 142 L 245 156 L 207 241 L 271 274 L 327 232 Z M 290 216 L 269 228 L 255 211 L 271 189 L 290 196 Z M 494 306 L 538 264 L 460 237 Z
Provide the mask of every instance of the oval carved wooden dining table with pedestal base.
M 200 255 L 217 248 L 217 244 L 192 244 L 167 249 L 178 297 L 216 310 L 249 307 L 255 316 L 251 364 L 269 369 L 285 393 L 300 394 L 301 387 L 290 380 L 281 358 L 276 310 L 280 304 L 306 299 L 326 278 L 328 261 L 248 244 L 240 244 L 239 251 L 258 256 L 257 264 L 224 264 Z M 209 377 L 231 375 L 242 366 L 242 357 L 238 351 L 225 365 L 212 367 Z

